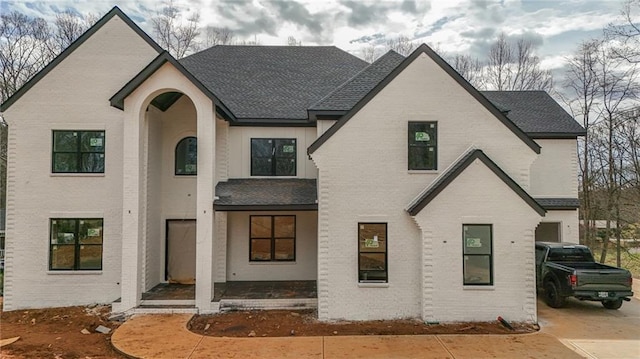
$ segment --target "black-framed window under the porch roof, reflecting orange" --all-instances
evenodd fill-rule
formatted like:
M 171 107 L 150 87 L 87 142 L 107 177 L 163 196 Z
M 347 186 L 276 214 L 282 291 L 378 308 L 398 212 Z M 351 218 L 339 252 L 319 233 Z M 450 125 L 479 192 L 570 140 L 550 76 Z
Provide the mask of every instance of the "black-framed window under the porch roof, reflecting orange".
M 249 260 L 296 260 L 296 216 L 250 216 Z

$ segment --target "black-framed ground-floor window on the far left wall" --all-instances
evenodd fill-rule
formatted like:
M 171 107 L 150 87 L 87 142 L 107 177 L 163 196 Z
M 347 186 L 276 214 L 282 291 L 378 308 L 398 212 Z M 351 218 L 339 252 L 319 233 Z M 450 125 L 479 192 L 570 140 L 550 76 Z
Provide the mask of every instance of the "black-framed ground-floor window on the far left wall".
M 52 218 L 50 270 L 102 269 L 102 218 Z

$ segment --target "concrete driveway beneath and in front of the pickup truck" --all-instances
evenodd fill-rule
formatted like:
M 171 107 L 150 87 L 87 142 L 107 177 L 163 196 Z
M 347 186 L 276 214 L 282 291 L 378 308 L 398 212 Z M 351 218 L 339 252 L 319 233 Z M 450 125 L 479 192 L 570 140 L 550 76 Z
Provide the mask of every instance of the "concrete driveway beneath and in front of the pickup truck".
M 634 287 L 638 293 L 640 286 Z M 640 299 L 637 297 L 624 302 L 619 310 L 575 299 L 568 299 L 563 308 L 553 309 L 539 299 L 538 322 L 543 333 L 557 337 L 586 358 L 640 358 Z

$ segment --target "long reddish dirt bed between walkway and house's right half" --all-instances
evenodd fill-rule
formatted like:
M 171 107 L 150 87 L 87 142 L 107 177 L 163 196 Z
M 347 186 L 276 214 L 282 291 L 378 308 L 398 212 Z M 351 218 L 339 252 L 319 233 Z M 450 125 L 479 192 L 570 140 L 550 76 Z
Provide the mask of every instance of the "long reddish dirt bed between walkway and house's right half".
M 285 337 L 336 335 L 412 334 L 514 334 L 531 333 L 537 325 L 509 323 L 511 331 L 497 320 L 486 323 L 425 324 L 420 320 L 376 320 L 366 322 L 319 322 L 314 310 L 270 310 L 196 315 L 189 329 L 218 337 Z

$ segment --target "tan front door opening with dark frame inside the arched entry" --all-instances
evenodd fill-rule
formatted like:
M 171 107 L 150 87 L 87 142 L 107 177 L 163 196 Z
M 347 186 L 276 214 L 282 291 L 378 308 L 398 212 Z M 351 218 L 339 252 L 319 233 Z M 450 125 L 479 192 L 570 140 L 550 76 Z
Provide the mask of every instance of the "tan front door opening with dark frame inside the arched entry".
M 165 280 L 169 283 L 196 282 L 196 220 L 167 220 Z

